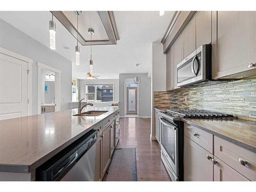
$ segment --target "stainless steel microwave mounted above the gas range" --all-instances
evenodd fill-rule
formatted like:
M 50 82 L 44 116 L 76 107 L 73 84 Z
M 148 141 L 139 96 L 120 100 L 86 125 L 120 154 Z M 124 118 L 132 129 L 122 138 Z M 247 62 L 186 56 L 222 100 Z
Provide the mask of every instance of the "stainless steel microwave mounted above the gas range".
M 211 79 L 211 45 L 202 45 L 177 65 L 177 86 L 186 87 Z

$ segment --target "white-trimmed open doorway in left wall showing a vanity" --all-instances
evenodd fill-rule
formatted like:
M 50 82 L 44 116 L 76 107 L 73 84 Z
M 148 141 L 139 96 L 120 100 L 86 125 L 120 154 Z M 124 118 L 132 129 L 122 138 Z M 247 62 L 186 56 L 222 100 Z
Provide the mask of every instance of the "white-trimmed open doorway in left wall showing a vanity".
M 37 113 L 60 111 L 61 71 L 37 62 L 38 66 L 38 105 Z

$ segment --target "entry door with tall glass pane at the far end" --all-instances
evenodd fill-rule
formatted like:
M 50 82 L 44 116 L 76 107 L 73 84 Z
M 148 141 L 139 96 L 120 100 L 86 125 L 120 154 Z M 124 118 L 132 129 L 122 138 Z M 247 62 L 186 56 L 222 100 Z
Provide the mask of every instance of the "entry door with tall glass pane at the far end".
M 138 88 L 126 87 L 126 114 L 138 114 Z

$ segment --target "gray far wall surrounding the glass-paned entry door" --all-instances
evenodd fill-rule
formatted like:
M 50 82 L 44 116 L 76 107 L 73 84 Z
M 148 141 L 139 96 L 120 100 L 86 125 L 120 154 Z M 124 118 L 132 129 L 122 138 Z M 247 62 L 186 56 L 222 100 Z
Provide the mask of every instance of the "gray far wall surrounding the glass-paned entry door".
M 120 116 L 124 116 L 124 81 L 128 78 L 134 78 L 137 74 L 119 74 L 119 102 Z M 139 84 L 139 116 L 151 116 L 151 78 L 147 77 L 147 73 L 140 73 L 141 78 Z

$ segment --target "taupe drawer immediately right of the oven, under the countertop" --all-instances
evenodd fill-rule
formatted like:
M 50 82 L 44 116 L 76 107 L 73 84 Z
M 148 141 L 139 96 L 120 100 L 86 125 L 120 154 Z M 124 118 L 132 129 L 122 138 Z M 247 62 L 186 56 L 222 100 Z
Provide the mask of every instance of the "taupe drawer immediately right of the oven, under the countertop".
M 184 135 L 213 154 L 213 135 L 195 126 L 184 123 Z

